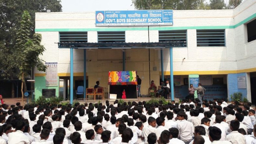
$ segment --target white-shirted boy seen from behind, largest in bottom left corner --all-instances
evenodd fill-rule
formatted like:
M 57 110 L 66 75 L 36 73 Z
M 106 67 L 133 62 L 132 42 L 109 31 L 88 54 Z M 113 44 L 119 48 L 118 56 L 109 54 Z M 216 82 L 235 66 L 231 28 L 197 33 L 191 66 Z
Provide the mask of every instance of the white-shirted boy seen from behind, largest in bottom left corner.
M 18 120 L 16 122 L 15 126 L 15 132 L 8 134 L 8 143 L 14 144 L 14 143 L 24 143 L 29 144 L 29 138 L 23 133 L 25 129 L 25 123 L 22 120 Z

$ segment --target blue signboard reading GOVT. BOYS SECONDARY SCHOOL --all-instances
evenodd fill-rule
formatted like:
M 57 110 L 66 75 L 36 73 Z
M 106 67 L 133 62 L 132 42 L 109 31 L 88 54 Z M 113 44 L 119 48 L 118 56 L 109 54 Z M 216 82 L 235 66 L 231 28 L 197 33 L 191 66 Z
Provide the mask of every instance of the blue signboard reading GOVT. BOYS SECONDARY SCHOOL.
M 96 11 L 96 26 L 173 25 L 173 10 Z

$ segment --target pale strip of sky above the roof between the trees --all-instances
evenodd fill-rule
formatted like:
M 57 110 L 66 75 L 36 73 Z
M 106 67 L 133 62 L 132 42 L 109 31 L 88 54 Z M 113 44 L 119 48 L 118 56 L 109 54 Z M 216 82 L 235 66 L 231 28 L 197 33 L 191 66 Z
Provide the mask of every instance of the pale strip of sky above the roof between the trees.
M 132 4 L 132 0 L 61 0 L 63 12 L 134 10 Z

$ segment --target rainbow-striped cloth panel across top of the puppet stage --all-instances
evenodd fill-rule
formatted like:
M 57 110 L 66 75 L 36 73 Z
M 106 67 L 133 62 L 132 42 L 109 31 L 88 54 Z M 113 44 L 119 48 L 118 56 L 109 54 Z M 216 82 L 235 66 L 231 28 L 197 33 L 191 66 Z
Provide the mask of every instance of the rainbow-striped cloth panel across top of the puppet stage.
M 110 85 L 137 84 L 136 71 L 111 71 L 109 72 Z

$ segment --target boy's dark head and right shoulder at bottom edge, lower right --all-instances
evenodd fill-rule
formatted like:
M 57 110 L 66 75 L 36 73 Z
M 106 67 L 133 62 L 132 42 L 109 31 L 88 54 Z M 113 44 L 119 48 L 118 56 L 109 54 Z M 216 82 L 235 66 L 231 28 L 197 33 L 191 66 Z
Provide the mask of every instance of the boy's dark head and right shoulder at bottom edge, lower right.
M 209 127 L 209 139 L 212 144 L 232 144 L 229 141 L 220 140 L 221 130 L 218 127 Z

